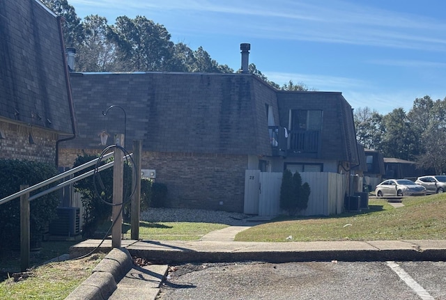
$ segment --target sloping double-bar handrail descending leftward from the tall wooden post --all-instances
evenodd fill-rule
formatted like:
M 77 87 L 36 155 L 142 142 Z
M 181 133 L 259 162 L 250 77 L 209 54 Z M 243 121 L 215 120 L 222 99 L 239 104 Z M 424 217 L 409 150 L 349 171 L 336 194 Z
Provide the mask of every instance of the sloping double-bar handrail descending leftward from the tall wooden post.
M 109 153 L 107 155 L 104 155 L 102 157 L 101 161 L 104 161 L 105 159 L 108 159 L 109 157 L 113 157 L 113 155 L 114 155 L 113 152 L 111 152 L 111 153 Z M 125 155 L 124 158 L 127 159 L 131 155 L 132 155 L 132 153 L 130 155 Z M 61 173 L 59 175 L 56 175 L 54 177 L 51 177 L 51 178 L 49 178 L 47 180 L 44 180 L 43 182 L 39 182 L 38 184 L 34 184 L 32 187 L 28 187 L 28 188 L 26 188 L 26 189 L 24 189 L 22 191 L 17 191 L 17 193 L 1 199 L 0 200 L 0 205 L 2 205 L 3 203 L 7 203 L 10 200 L 18 198 L 18 197 L 20 197 L 20 196 L 22 196 L 22 195 L 24 195 L 26 193 L 29 193 L 31 191 L 36 191 L 36 189 L 40 189 L 40 187 L 45 187 L 46 185 L 51 184 L 52 182 L 56 182 L 58 180 L 61 180 L 62 178 L 67 177 L 68 175 L 71 175 L 71 174 L 77 173 L 79 171 L 82 171 L 82 170 L 84 170 L 84 168 L 88 168 L 89 166 L 93 166 L 93 165 L 98 163 L 98 159 L 100 159 L 100 158 L 98 157 L 97 159 L 93 159 L 93 160 L 91 160 L 89 162 L 86 162 L 85 164 L 82 164 L 80 166 L 72 168 L 71 170 L 63 172 L 63 173 Z M 104 166 L 100 166 L 100 168 L 98 168 L 98 171 L 105 170 L 106 168 L 110 168 L 112 166 L 113 166 L 113 161 L 109 162 L 108 164 L 105 164 Z M 36 198 L 38 198 L 40 196 L 44 196 L 46 194 L 49 194 L 52 191 L 56 191 L 57 189 L 61 189 L 62 187 L 65 187 L 66 185 L 68 185 L 68 184 L 70 184 L 72 182 L 76 182 L 77 180 L 81 180 L 81 179 L 84 179 L 85 177 L 89 177 L 89 176 L 93 175 L 93 173 L 94 173 L 94 170 L 91 170 L 91 171 L 89 171 L 87 173 L 84 173 L 84 174 L 79 175 L 79 176 L 77 176 L 75 178 L 67 180 L 66 182 L 68 182 L 68 183 L 63 182 L 61 184 L 57 184 L 56 187 L 52 187 L 50 189 L 47 189 L 45 191 L 42 191 L 42 192 L 40 192 L 40 193 L 38 193 L 36 195 L 33 195 L 33 196 L 29 197 L 29 200 L 30 201 L 34 200 L 34 199 L 36 199 Z M 88 174 L 88 175 L 86 175 L 86 174 Z

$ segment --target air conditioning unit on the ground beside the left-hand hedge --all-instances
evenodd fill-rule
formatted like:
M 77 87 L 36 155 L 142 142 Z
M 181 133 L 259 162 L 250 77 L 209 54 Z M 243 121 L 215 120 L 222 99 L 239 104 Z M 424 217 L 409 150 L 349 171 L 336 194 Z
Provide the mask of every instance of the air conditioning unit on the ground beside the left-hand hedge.
M 79 207 L 57 207 L 57 218 L 49 223 L 49 234 L 74 237 L 80 233 Z

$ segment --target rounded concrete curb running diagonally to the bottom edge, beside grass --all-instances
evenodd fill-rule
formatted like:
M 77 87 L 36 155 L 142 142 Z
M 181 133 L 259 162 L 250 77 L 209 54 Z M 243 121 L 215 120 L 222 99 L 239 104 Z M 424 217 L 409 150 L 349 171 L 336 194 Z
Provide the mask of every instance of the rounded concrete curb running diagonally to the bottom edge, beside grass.
M 132 269 L 133 260 L 125 248 L 113 248 L 93 269 L 93 274 L 76 287 L 66 300 L 106 300 L 117 283 Z

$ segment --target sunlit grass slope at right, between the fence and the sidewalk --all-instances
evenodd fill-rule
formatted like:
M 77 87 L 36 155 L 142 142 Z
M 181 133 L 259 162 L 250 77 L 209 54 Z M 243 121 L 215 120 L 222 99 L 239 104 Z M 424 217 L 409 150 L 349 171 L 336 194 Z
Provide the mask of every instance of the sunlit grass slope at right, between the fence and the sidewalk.
M 254 226 L 238 233 L 243 242 L 371 241 L 389 239 L 445 239 L 446 194 L 403 198 L 403 207 L 386 200 L 370 200 L 359 214 L 284 219 Z M 292 237 L 287 239 L 287 237 Z

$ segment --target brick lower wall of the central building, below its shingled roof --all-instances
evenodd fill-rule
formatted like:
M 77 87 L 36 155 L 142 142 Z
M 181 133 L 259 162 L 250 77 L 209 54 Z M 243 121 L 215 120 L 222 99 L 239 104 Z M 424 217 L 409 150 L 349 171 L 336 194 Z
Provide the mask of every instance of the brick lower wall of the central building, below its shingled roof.
M 77 155 L 97 150 L 61 149 L 59 166 L 72 166 Z M 130 152 L 132 152 L 130 150 Z M 243 212 L 247 156 L 143 152 L 142 168 L 156 170 L 156 182 L 168 191 L 168 207 Z

